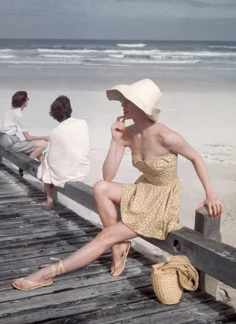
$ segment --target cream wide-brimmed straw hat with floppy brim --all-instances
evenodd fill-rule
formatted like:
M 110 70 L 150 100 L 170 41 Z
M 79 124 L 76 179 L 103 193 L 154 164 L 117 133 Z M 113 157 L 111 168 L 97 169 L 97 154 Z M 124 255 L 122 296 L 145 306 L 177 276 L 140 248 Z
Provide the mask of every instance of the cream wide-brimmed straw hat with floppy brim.
M 121 101 L 123 97 L 142 109 L 152 121 L 158 121 L 161 111 L 156 105 L 161 100 L 160 89 L 150 79 L 140 80 L 131 85 L 119 84 L 106 91 L 109 100 Z

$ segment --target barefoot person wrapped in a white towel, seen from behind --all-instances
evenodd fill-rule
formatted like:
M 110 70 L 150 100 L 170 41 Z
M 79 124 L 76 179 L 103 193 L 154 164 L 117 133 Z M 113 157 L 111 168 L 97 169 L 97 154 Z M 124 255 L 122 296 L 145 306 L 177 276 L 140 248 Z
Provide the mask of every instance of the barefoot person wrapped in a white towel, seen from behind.
M 71 117 L 70 100 L 59 96 L 49 115 L 59 121 L 50 134 L 50 148 L 38 167 L 37 178 L 44 183 L 47 200 L 43 207 L 53 208 L 52 184 L 64 188 L 68 181 L 84 181 L 90 170 L 89 132 L 83 119 Z

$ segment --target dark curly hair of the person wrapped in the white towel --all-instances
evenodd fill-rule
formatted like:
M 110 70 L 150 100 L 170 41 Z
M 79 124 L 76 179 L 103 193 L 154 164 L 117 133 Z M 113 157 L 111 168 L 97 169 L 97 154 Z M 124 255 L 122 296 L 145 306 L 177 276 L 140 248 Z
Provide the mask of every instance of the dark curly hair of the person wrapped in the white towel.
M 57 97 L 50 106 L 49 115 L 59 122 L 70 118 L 71 113 L 70 99 L 67 96 Z

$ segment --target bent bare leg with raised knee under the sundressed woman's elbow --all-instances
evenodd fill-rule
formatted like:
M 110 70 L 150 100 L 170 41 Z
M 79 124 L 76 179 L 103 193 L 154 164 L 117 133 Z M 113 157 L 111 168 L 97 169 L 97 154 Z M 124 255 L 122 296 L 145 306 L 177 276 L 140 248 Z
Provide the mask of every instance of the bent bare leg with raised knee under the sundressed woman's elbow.
M 122 194 L 122 184 L 118 182 L 107 182 L 105 180 L 97 181 L 93 186 L 93 197 L 96 202 L 99 217 L 104 227 L 108 227 L 117 223 L 116 206 L 120 207 Z M 115 204 L 115 205 L 114 205 Z M 125 250 L 128 249 L 128 243 L 125 244 Z M 116 265 L 124 252 L 123 244 L 118 243 L 111 248 L 113 265 Z M 119 272 L 122 264 L 114 270 L 112 274 Z

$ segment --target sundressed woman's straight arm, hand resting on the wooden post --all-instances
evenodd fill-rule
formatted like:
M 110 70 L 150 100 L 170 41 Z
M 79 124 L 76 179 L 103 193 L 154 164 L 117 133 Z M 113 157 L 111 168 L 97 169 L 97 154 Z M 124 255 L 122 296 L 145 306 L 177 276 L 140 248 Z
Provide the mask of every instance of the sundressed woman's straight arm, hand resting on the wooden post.
M 212 217 L 212 213 L 215 217 L 221 214 L 223 212 L 223 204 L 218 200 L 216 193 L 212 188 L 209 174 L 202 156 L 194 150 L 194 148 L 189 145 L 180 134 L 173 131 L 163 136 L 163 145 L 168 148 L 170 152 L 180 154 L 193 163 L 193 167 L 198 178 L 202 182 L 206 193 L 206 200 L 201 203 L 197 209 L 206 205 L 210 217 Z

